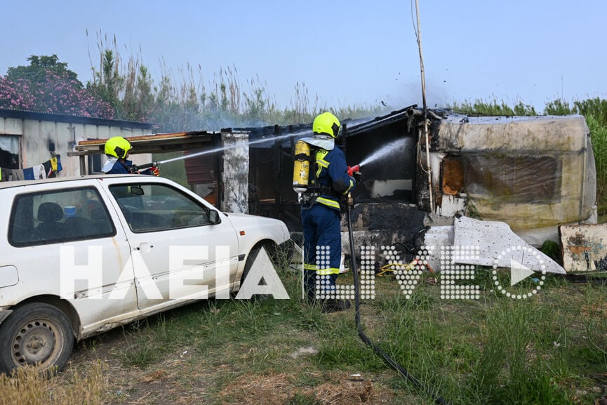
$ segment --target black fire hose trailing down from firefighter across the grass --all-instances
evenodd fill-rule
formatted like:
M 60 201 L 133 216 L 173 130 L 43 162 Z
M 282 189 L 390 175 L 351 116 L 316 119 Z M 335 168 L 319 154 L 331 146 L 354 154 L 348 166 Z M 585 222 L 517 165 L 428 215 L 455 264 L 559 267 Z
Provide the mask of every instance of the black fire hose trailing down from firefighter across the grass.
M 359 291 L 359 274 L 358 274 L 358 270 L 356 268 L 356 255 L 354 255 L 354 236 L 352 235 L 352 220 L 350 218 L 350 211 L 352 209 L 351 206 L 352 206 L 352 204 L 350 204 L 350 201 L 348 201 L 347 220 L 348 220 L 348 234 L 349 234 L 349 241 L 350 241 L 350 253 L 352 254 L 352 274 L 354 276 L 354 310 L 355 310 L 354 313 L 355 313 L 356 328 L 358 329 L 359 338 L 361 338 L 361 340 L 366 345 L 371 347 L 373 349 L 373 352 L 375 352 L 375 354 L 378 354 L 378 356 L 382 357 L 382 359 L 384 359 L 384 361 L 387 364 L 389 364 L 390 366 L 392 366 L 392 368 L 394 368 L 396 371 L 398 371 L 401 374 L 401 376 L 405 377 L 407 380 L 411 381 L 418 387 L 422 388 L 422 390 L 424 390 L 430 397 L 432 397 L 432 399 L 434 399 L 434 402 L 436 404 L 451 405 L 451 403 L 449 401 L 447 401 L 446 399 L 444 399 L 443 397 L 441 397 L 440 394 L 432 391 L 430 389 L 430 387 L 428 387 L 425 383 L 423 383 L 418 378 L 415 378 L 415 376 L 411 375 L 411 373 L 409 373 L 407 371 L 407 369 L 405 369 L 403 366 L 398 364 L 396 362 L 396 360 L 392 359 L 392 357 L 390 357 L 389 354 L 384 352 L 378 345 L 375 345 L 373 342 L 371 342 L 371 339 L 369 339 L 368 336 L 366 336 L 366 333 L 363 330 L 363 326 L 361 324 L 361 312 L 360 312 L 361 294 Z

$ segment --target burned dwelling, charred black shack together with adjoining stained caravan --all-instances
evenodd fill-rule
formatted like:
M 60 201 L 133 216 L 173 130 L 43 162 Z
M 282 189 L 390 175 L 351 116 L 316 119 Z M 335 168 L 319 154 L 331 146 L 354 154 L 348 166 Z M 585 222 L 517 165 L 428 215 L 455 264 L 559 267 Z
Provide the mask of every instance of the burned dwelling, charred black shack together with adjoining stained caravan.
M 249 133 L 249 213 L 283 220 L 296 238 L 302 228 L 293 154 L 312 124 L 234 130 Z M 558 241 L 559 225 L 596 222 L 584 117 L 468 117 L 441 109 L 425 115 L 412 105 L 342 119 L 342 135 L 347 164 L 361 164 L 352 193 L 356 246 L 420 246 L 430 227 L 453 227 L 456 215 L 503 222 L 532 246 Z M 348 238 L 342 241 L 349 251 Z

